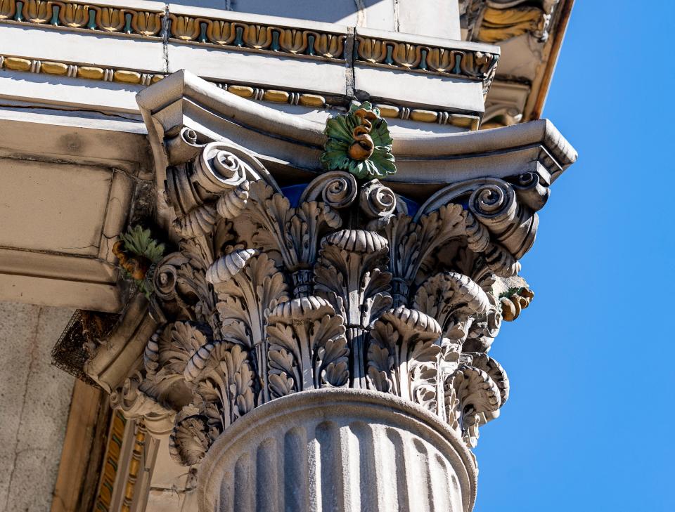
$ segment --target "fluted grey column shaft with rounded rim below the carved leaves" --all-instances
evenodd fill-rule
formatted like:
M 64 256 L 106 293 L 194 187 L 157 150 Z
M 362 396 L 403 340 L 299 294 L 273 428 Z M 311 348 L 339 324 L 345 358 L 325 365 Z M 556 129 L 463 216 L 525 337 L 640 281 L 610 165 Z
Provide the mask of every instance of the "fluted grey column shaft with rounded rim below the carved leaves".
M 203 461 L 200 511 L 468 512 L 477 469 L 461 438 L 407 400 L 324 389 L 260 407 Z

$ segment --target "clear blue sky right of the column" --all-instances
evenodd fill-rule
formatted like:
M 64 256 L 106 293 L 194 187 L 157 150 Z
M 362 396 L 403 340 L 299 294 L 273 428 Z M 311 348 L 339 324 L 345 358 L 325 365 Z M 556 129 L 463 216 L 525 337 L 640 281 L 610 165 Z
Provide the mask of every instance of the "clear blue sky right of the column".
M 577 0 L 544 117 L 579 160 L 491 356 L 475 512 L 675 511 L 675 1 Z

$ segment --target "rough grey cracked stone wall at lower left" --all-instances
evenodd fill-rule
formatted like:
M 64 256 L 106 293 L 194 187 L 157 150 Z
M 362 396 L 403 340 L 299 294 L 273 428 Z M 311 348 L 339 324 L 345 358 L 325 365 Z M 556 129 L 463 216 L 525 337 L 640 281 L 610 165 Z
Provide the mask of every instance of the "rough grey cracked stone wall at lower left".
M 74 378 L 51 366 L 72 310 L 0 302 L 0 510 L 46 512 Z

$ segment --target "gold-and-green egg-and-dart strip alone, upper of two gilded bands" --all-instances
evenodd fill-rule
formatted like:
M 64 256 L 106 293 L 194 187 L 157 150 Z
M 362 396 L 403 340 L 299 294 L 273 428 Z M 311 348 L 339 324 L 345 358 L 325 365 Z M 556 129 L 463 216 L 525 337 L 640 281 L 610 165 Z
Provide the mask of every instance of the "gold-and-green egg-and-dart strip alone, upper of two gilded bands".
M 346 45 L 346 34 L 173 13 L 168 16 L 169 23 L 165 24 L 165 13 L 160 11 L 136 11 L 132 8 L 58 0 L 0 0 L 0 22 L 96 30 L 157 39 L 166 35 L 171 41 L 188 44 L 245 48 L 341 62 L 347 60 L 345 48 L 349 45 Z M 362 65 L 481 80 L 486 88 L 499 60 L 499 55 L 493 53 L 411 44 L 378 37 L 356 36 L 354 47 L 353 59 Z

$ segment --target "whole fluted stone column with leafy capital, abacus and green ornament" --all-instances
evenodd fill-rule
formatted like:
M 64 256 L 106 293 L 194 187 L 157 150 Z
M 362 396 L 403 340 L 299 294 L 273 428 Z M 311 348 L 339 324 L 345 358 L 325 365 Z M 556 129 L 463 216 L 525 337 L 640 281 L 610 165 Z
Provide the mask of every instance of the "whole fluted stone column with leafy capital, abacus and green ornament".
M 470 512 L 470 449 L 509 393 L 488 351 L 532 299 L 518 259 L 572 148 L 538 122 L 409 138 L 399 169 L 367 102 L 322 133 L 186 74 L 156 91 L 144 115 L 171 232 L 115 244 L 143 293 L 91 376 L 150 433 L 171 431 L 201 512 Z M 188 110 L 190 94 L 222 113 Z M 181 103 L 259 152 L 162 127 Z M 311 172 L 275 156 L 296 152 Z

